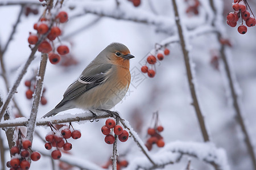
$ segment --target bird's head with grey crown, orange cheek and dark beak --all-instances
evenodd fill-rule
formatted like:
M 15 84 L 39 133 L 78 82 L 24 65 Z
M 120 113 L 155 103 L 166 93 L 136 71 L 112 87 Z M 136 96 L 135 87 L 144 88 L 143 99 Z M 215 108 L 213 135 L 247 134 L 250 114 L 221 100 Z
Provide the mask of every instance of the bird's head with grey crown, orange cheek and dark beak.
M 134 58 L 134 56 L 130 54 L 130 50 L 127 46 L 114 42 L 108 45 L 104 51 L 106 52 L 106 57 L 110 63 L 129 69 L 129 59 Z

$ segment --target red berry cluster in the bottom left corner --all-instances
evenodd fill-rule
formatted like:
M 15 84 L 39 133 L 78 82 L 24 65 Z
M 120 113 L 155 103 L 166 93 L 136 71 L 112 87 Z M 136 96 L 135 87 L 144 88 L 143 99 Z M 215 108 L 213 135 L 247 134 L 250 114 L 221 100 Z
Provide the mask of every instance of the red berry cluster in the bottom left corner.
M 41 158 L 39 152 L 31 150 L 32 143 L 25 139 L 24 135 L 19 129 L 18 140 L 16 141 L 16 146 L 12 147 L 11 160 L 6 163 L 6 166 L 11 170 L 15 169 L 29 169 L 30 162 L 28 158 L 31 158 L 33 161 L 37 161 Z

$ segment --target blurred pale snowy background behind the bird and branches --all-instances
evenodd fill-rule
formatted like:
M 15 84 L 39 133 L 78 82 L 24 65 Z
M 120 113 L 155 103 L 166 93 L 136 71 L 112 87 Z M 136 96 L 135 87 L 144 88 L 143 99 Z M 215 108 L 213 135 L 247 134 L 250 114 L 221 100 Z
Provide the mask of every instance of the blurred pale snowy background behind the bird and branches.
M 118 2 L 118 6 L 117 6 Z M 199 6 L 189 10 L 189 7 L 199 2 Z M 256 2 L 247 1 L 251 10 L 256 11 Z M 5 54 L 2 56 L 6 68 L 9 87 L 13 86 L 20 67 L 26 62 L 31 53 L 27 38 L 29 32 L 36 33 L 34 23 L 38 22 L 44 7 L 39 1 L 0 1 L 0 45 L 1 49 L 8 41 L 13 25 L 19 15 L 20 5 L 26 4 L 20 22 L 16 27 L 13 39 L 10 41 Z M 229 42 L 225 53 L 241 102 L 242 115 L 249 131 L 251 143 L 256 140 L 256 29 L 248 28 L 245 35 L 237 31 L 241 19 L 235 28 L 226 24 L 226 15 L 233 12 L 232 0 L 214 1 L 217 14 L 210 8 L 209 1 L 177 1 L 184 35 L 188 42 L 189 55 L 195 70 L 196 91 L 200 107 L 205 116 L 205 122 L 211 142 L 218 148 L 224 148 L 228 157 L 230 169 L 254 169 L 247 151 L 245 140 L 237 123 L 236 113 L 230 97 L 230 88 L 225 69 L 220 56 L 220 42 L 216 30 Z M 30 11 L 28 12 L 28 8 Z M 34 11 L 38 10 L 38 12 Z M 125 44 L 135 58 L 130 60 L 131 85 L 125 98 L 113 108 L 122 118 L 130 122 L 139 137 L 146 142 L 147 129 L 152 124 L 152 114 L 159 113 L 159 124 L 164 127 L 161 133 L 165 143 L 175 141 L 203 142 L 195 109 L 191 105 L 191 95 L 185 71 L 184 57 L 181 46 L 175 41 L 167 46 L 170 54 L 163 61 L 158 61 L 154 67 L 156 74 L 149 78 L 141 73 L 141 66 L 146 63 L 146 57 L 154 52 L 155 44 L 164 44 L 177 38 L 174 10 L 171 1 L 141 0 L 139 5 L 133 1 L 94 0 L 94 1 L 64 1 L 62 10 L 68 12 L 69 20 L 61 24 L 61 43 L 70 46 L 71 53 L 61 57 L 60 63 L 47 63 L 44 78 L 44 97 L 46 105 L 39 105 L 38 117 L 42 117 L 56 106 L 63 98 L 66 88 L 75 81 L 82 70 L 98 53 L 112 42 Z M 28 13 L 28 14 L 27 14 Z M 33 14 L 35 13 L 35 14 Z M 214 20 L 215 19 L 215 20 Z M 211 23 L 216 22 L 213 28 Z M 189 34 L 190 33 L 190 34 Z M 192 36 L 189 36 L 192 35 Z M 178 40 L 178 39 L 177 39 Z M 56 41 L 56 45 L 60 43 Z M 26 99 L 26 80 L 37 73 L 40 63 L 40 53 L 27 70 L 22 83 L 15 94 L 20 112 L 25 117 L 30 116 L 32 100 Z M 2 67 L 2 66 L 1 66 Z M 2 74 L 2 71 L 1 71 Z M 3 99 L 7 96 L 6 83 L 0 76 L 0 94 Z M 80 109 L 72 109 L 65 113 L 82 113 Z M 12 104 L 12 118 L 19 116 L 19 111 Z M 89 115 L 89 113 L 88 113 Z M 74 158 L 82 158 L 102 166 L 112 156 L 112 145 L 104 142 L 101 127 L 105 120 L 98 122 L 73 123 L 82 133 L 81 139 L 71 140 L 73 149 L 69 154 Z M 43 138 L 50 131 L 47 127 L 37 127 L 36 130 Z M 4 131 L 0 131 L 4 146 L 7 140 Z M 35 150 L 50 154 L 44 148 L 44 142 L 34 138 Z M 153 146 L 150 152 L 159 150 Z M 121 160 L 130 162 L 134 155 L 143 156 L 133 139 L 125 143 L 118 142 L 118 153 Z M 6 151 L 6 161 L 10 160 Z M 192 169 L 213 169 L 209 164 L 197 159 L 183 156 L 179 163 L 166 165 L 163 169 L 185 169 L 191 160 Z M 51 159 L 42 156 L 38 162 L 31 164 L 31 169 L 52 169 Z M 65 169 L 55 161 L 55 169 Z M 77 169 L 68 167 L 66 169 Z M 123 168 L 125 169 L 125 168 Z

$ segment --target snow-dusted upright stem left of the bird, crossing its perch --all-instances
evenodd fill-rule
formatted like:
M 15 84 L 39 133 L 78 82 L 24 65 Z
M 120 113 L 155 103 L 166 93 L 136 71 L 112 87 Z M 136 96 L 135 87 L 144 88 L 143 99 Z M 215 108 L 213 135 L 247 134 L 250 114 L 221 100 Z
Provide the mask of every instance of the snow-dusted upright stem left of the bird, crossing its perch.
M 27 139 L 32 142 L 34 131 L 35 131 L 35 124 L 36 124 L 36 116 L 38 114 L 38 106 L 43 90 L 43 81 L 44 81 L 44 74 L 46 73 L 46 65 L 47 65 L 48 54 L 42 53 L 42 59 L 40 62 L 40 67 L 38 71 L 38 80 L 36 81 L 36 88 L 35 88 L 35 95 L 34 100 L 31 108 L 30 119 L 28 121 L 28 129 L 27 129 Z

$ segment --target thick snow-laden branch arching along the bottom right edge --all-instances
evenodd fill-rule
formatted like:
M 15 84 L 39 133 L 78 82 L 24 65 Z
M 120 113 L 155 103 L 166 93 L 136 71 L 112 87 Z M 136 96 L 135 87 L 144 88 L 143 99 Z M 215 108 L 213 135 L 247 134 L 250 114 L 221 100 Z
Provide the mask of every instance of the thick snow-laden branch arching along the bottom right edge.
M 222 148 L 216 148 L 212 143 L 198 142 L 170 142 L 160 151 L 152 155 L 156 162 L 156 167 L 145 158 L 135 158 L 130 162 L 127 169 L 154 169 L 164 167 L 167 164 L 174 164 L 180 161 L 183 155 L 197 158 L 203 162 L 209 163 L 219 170 L 229 170 L 228 159 Z

